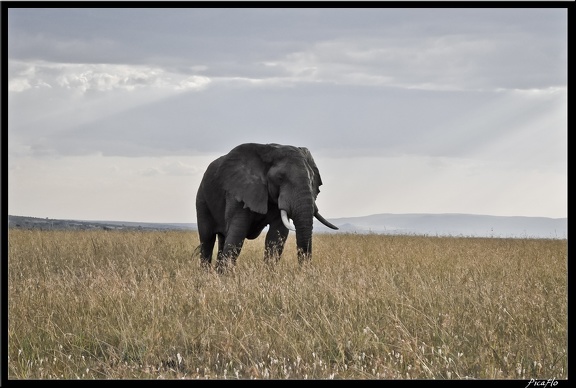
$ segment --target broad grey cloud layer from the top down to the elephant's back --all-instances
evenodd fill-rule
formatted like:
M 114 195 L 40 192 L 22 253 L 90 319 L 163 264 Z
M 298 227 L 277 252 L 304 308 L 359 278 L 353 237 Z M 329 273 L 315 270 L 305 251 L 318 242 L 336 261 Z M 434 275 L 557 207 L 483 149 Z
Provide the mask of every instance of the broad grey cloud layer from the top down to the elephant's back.
M 550 141 L 564 141 L 563 15 L 11 10 L 10 144 L 36 155 L 189 155 L 254 141 L 451 157 L 486 155 L 526 128 L 541 138 L 531 123 L 546 120 L 560 128 Z

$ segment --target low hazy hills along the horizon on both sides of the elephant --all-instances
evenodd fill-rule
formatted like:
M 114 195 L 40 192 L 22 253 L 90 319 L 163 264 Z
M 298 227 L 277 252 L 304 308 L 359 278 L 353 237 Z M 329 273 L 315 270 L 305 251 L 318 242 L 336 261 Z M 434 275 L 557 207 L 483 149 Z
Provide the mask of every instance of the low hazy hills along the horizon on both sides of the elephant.
M 568 238 L 567 218 L 472 214 L 375 214 L 333 218 L 332 230 L 314 220 L 315 233 L 375 233 L 461 237 Z M 194 223 L 80 221 L 8 216 L 8 226 L 26 229 L 197 230 Z

